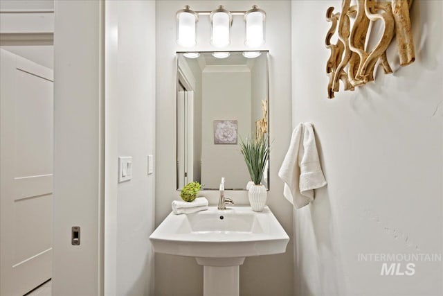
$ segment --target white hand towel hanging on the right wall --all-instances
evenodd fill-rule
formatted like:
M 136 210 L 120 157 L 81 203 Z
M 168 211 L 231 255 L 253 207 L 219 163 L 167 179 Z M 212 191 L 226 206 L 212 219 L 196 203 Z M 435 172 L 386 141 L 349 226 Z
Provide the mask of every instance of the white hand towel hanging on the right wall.
M 312 123 L 299 123 L 278 176 L 284 181 L 283 195 L 297 209 L 314 200 L 314 189 L 325 186 Z

